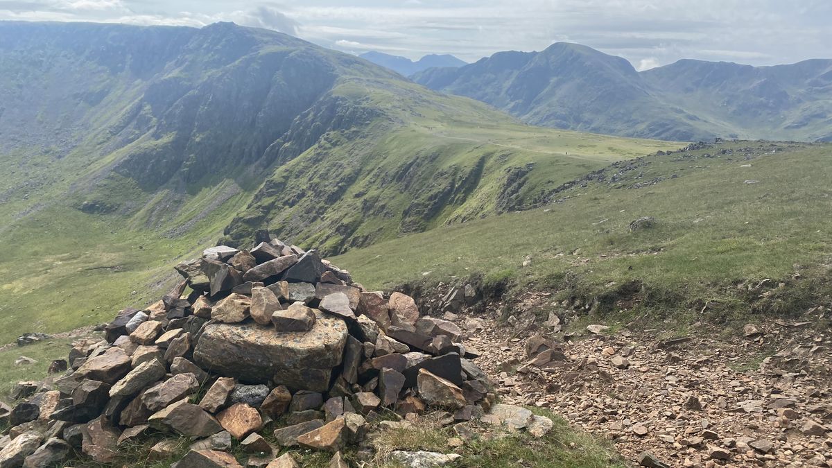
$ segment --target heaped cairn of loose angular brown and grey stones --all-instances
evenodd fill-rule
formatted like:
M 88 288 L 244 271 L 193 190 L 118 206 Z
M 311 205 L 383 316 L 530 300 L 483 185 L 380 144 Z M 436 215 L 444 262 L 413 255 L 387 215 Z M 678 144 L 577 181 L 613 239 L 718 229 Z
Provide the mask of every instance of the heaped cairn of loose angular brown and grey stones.
M 315 251 L 259 236 L 250 251 L 215 246 L 180 263 L 184 280 L 161 301 L 119 311 L 104 341 L 73 343 L 51 382 L 19 382 L 12 397 L 22 402 L 0 408 L 12 426 L 0 468 L 63 466 L 77 449 L 111 463 L 153 431 L 195 440 L 180 468 L 240 466 L 224 451 L 232 438 L 253 454 L 248 466 L 296 466 L 275 459 L 286 446 L 330 451 L 330 466 L 347 466 L 345 446 L 407 422 L 391 417 L 437 410 L 469 421 L 493 406 L 453 322 L 419 316 L 399 292 L 364 291 Z M 280 447 L 260 436 L 267 424 Z M 150 456 L 175 448 L 166 439 Z

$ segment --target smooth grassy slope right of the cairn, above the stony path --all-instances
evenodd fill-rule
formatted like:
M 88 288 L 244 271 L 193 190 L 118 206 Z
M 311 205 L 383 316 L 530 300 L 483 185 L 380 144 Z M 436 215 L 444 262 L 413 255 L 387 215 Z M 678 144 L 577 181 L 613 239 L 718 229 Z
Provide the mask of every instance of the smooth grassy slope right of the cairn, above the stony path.
M 745 161 L 736 151 L 742 147 L 755 147 L 758 156 Z M 735 153 L 703 157 L 722 148 Z M 369 287 L 479 272 L 598 296 L 640 280 L 666 297 L 659 303 L 676 310 L 698 301 L 735 300 L 731 285 L 745 281 L 796 271 L 805 281 L 823 281 L 832 261 L 832 146 L 794 145 L 773 154 L 770 149 L 768 143 L 737 142 L 685 157 L 647 157 L 621 182 L 562 192 L 569 198 L 545 209 L 442 227 L 333 261 Z M 654 177 L 665 180 L 617 188 Z M 628 230 L 631 221 L 646 216 L 656 217 L 656 227 Z M 527 255 L 532 265 L 522 267 Z

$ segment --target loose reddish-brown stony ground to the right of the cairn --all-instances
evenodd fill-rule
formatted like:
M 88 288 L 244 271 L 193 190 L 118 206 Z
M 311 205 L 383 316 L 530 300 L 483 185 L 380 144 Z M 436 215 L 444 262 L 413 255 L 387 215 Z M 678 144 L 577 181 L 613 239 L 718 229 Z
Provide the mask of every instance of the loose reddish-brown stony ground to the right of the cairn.
M 503 402 L 550 408 L 636 465 L 832 466 L 832 333 L 818 323 L 829 313 L 725 339 L 598 324 L 564 341 L 557 316 L 458 320 Z

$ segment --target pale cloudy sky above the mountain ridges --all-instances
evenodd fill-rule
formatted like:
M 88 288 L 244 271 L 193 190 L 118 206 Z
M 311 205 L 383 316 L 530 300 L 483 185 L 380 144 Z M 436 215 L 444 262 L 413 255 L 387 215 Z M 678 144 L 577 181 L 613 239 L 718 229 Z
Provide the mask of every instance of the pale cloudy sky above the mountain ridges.
M 830 0 L 0 0 L 0 20 L 201 27 L 233 21 L 343 52 L 466 62 L 577 42 L 639 70 L 681 58 L 775 65 L 832 57 Z

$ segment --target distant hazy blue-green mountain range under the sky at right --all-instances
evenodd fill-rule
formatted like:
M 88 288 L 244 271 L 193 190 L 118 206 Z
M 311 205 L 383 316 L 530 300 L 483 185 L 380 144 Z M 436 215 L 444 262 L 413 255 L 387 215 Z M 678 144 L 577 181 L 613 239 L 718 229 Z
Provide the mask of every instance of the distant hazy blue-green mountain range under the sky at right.
M 830 73 L 829 60 L 779 67 L 683 60 L 636 72 L 621 57 L 555 43 L 413 79 L 547 127 L 672 140 L 815 141 L 829 137 Z

